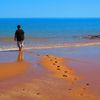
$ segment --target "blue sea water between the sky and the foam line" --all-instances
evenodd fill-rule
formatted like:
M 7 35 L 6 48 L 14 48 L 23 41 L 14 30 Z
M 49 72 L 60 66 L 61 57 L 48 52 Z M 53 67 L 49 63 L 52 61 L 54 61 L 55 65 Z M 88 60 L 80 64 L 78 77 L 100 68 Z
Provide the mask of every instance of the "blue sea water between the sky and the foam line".
M 100 41 L 84 38 L 87 35 L 100 34 L 99 18 L 1 18 L 1 49 L 16 47 L 13 37 L 18 24 L 25 32 L 25 47 L 65 46 L 64 44 Z

